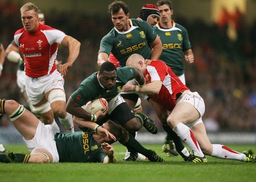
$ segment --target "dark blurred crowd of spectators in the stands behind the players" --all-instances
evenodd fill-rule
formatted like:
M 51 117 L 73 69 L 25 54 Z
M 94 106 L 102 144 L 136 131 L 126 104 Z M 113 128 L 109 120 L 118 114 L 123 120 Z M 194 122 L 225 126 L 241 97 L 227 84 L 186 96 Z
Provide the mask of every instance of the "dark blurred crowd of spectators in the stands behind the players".
M 0 42 L 4 48 L 22 27 L 19 5 L 1 4 Z M 136 17 L 134 17 L 136 18 Z M 97 52 L 101 38 L 113 27 L 109 16 L 97 17 L 86 13 L 50 11 L 45 13 L 47 25 L 70 34 L 81 42 L 81 52 L 65 77 L 67 97 L 81 81 L 98 70 Z M 195 64 L 185 63 L 186 83 L 202 95 L 205 101 L 204 123 L 209 132 L 256 130 L 256 21 L 252 26 L 239 24 L 237 38 L 231 40 L 227 25 L 193 22 L 175 15 L 175 22 L 186 27 L 195 56 Z M 243 21 L 242 21 L 243 22 Z M 58 60 L 67 60 L 67 49 L 58 50 Z M 0 98 L 26 103 L 16 83 L 17 64 L 4 62 L 0 77 Z M 154 110 L 143 102 L 152 118 Z M 10 123 L 4 118 L 0 126 Z

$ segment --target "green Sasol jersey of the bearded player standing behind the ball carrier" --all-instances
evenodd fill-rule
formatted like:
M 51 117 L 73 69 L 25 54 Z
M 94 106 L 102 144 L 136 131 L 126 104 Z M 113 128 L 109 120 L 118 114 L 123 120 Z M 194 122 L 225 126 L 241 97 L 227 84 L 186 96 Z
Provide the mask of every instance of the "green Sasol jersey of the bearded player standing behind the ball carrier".
M 100 52 L 112 54 L 119 61 L 121 67 L 132 54 L 140 54 L 145 59 L 150 59 L 151 48 L 148 43 L 154 42 L 156 32 L 145 21 L 129 20 L 131 29 L 120 32 L 115 27 L 104 36 L 100 42 Z

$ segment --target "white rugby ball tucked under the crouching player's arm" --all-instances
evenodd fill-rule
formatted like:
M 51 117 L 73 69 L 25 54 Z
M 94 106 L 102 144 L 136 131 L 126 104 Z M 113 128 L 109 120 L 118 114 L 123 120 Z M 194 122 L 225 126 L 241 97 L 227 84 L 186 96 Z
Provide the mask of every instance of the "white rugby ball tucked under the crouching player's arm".
M 90 114 L 95 114 L 99 110 L 106 110 L 108 108 L 108 101 L 105 98 L 97 98 L 91 100 L 86 105 L 83 105 L 83 109 Z

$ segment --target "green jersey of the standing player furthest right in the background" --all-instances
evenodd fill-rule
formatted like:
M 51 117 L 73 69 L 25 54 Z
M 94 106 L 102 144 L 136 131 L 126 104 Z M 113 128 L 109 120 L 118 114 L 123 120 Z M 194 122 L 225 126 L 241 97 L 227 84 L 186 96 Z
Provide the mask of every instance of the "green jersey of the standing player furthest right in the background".
M 163 52 L 159 59 L 170 66 L 178 77 L 184 73 L 183 52 L 191 49 L 188 38 L 188 31 L 172 22 L 170 29 L 163 29 L 159 22 L 154 26 L 154 31 L 158 34 L 163 45 Z

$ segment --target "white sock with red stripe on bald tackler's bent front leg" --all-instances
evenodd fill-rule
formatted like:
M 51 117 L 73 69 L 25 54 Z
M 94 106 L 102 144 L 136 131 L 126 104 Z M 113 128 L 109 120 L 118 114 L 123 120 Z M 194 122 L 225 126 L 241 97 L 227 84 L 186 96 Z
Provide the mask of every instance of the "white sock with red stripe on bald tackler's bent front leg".
M 186 144 L 188 144 L 189 148 L 194 152 L 195 155 L 200 157 L 204 157 L 204 153 L 202 152 L 193 132 L 189 129 L 188 126 L 183 123 L 179 123 L 175 129 L 173 130 L 177 135 L 182 139 Z

